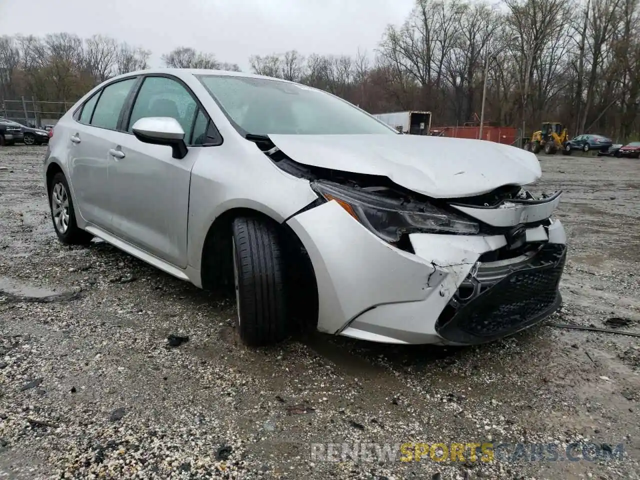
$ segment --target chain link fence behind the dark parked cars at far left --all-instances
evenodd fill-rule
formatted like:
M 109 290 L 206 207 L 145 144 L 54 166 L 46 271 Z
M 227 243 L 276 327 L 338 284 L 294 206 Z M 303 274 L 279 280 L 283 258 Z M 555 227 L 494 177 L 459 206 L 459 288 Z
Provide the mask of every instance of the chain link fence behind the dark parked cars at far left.
M 73 105 L 73 102 L 40 102 L 33 97 L 3 100 L 0 104 L 0 118 L 28 127 L 44 128 L 46 125 L 55 125 Z

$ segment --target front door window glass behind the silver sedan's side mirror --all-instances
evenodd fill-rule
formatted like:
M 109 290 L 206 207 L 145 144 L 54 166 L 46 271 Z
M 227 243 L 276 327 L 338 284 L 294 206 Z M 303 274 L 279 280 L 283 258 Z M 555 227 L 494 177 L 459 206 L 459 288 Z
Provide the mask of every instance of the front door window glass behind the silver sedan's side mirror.
M 170 116 L 182 126 L 184 140 L 189 143 L 197 108 L 196 101 L 179 82 L 167 77 L 147 77 L 133 105 L 128 131 L 145 116 Z

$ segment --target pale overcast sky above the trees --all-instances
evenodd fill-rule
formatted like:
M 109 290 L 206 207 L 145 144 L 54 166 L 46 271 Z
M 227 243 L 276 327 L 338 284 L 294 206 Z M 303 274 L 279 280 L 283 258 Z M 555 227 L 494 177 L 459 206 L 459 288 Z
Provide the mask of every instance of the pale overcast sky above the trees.
M 20 4 L 18 7 L 17 4 Z M 371 55 L 385 26 L 403 22 L 413 0 L 0 0 L 0 33 L 67 31 L 113 36 L 160 55 L 179 45 L 248 69 L 248 57 Z

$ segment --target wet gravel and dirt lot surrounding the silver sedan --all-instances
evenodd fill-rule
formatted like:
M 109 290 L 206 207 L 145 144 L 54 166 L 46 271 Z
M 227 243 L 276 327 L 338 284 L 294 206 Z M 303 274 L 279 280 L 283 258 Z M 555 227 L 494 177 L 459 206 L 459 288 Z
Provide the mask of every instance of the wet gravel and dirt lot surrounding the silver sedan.
M 0 478 L 640 478 L 637 337 L 541 326 L 467 349 L 324 335 L 246 349 L 234 302 L 108 244 L 58 243 L 44 151 L 0 150 Z M 640 332 L 640 162 L 541 162 L 571 247 L 552 321 Z M 559 460 L 312 458 L 323 442 L 556 444 Z

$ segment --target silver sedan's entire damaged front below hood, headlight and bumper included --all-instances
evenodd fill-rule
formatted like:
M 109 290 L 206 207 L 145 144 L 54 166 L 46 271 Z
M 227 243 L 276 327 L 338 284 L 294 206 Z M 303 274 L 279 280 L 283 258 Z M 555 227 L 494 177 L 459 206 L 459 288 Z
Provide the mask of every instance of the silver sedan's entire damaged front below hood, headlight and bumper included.
M 381 175 L 301 164 L 258 140 L 319 197 L 287 221 L 316 272 L 319 330 L 379 342 L 479 344 L 559 307 L 566 236 L 553 212 L 560 191 L 534 196 L 505 185 L 433 198 Z

